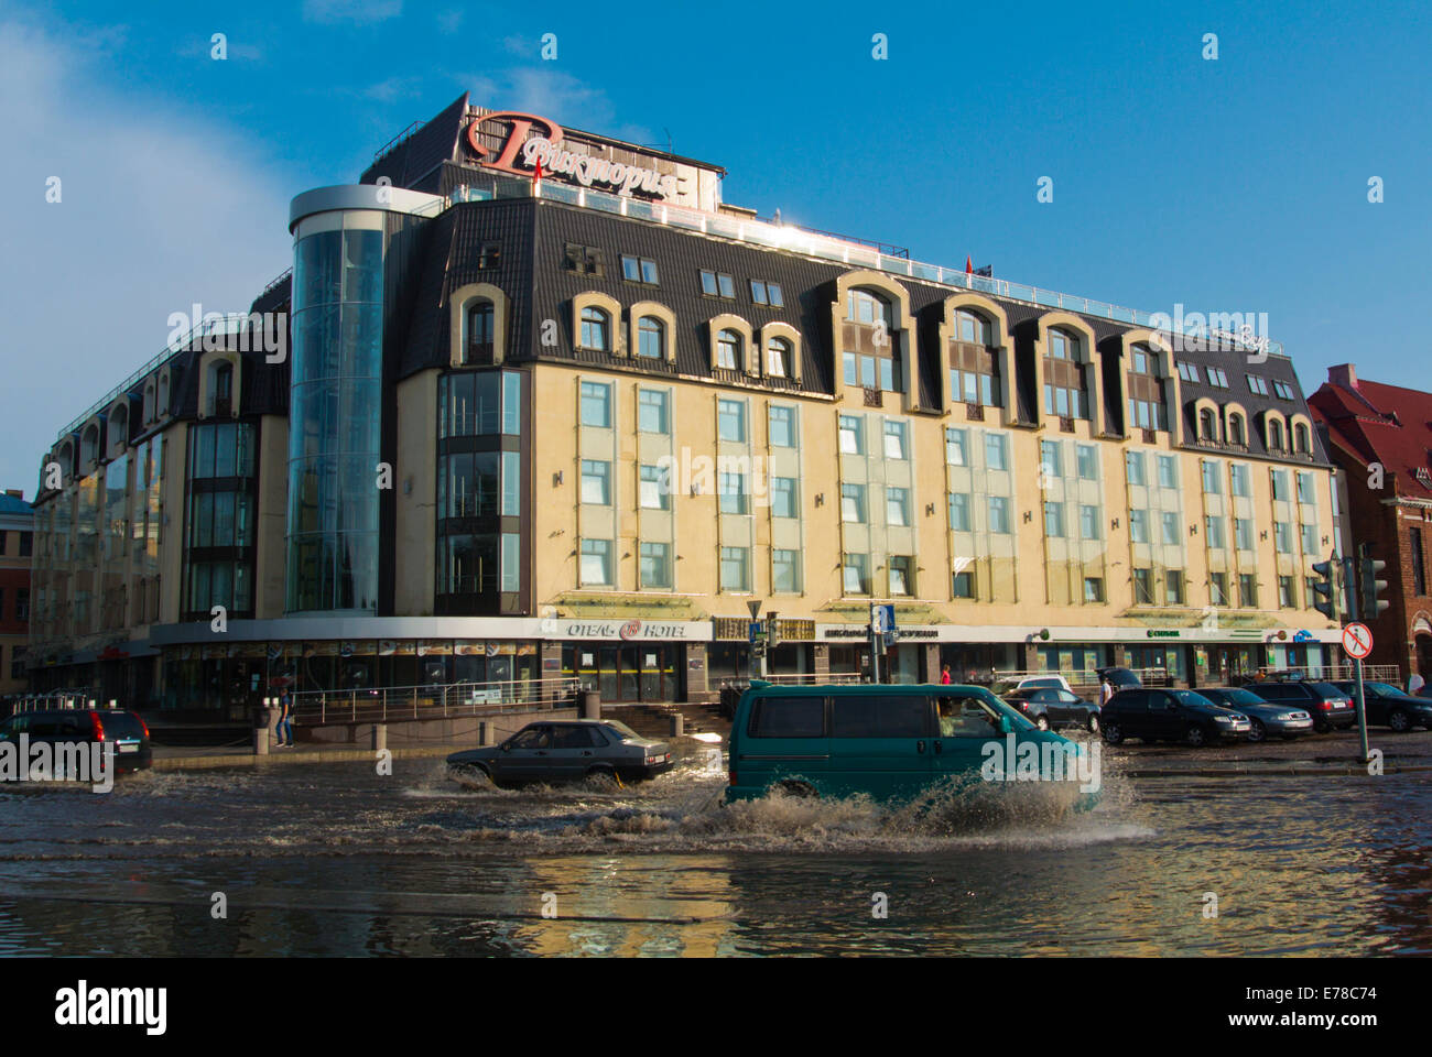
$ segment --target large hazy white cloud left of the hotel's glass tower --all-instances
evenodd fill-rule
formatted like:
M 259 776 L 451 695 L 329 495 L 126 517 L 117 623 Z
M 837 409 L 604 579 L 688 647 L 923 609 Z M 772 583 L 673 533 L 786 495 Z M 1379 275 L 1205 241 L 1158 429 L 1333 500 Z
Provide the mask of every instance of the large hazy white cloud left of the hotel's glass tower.
M 170 312 L 248 309 L 292 264 L 294 189 L 263 142 L 97 83 L 115 39 L 0 23 L 0 484 L 27 496 L 56 431 L 165 347 Z

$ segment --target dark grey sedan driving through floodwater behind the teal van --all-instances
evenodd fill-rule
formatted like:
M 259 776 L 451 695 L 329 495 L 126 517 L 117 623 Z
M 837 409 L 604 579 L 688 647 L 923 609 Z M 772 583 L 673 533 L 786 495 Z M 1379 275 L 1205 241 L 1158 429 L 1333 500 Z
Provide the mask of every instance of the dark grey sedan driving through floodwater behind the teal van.
M 454 752 L 458 778 L 483 775 L 503 788 L 528 782 L 620 778 L 632 782 L 672 769 L 672 746 L 614 719 L 528 723 L 500 745 Z

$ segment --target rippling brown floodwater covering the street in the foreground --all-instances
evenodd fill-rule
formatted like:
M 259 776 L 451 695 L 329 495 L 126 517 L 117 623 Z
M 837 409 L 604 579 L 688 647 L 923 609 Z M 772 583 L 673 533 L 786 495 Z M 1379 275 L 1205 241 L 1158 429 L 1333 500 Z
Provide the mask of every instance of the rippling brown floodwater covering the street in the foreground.
M 0 954 L 1432 951 L 1426 773 L 1136 761 L 1106 753 L 1087 814 L 1024 783 L 726 808 L 710 746 L 629 789 L 470 789 L 437 759 L 9 786 Z

